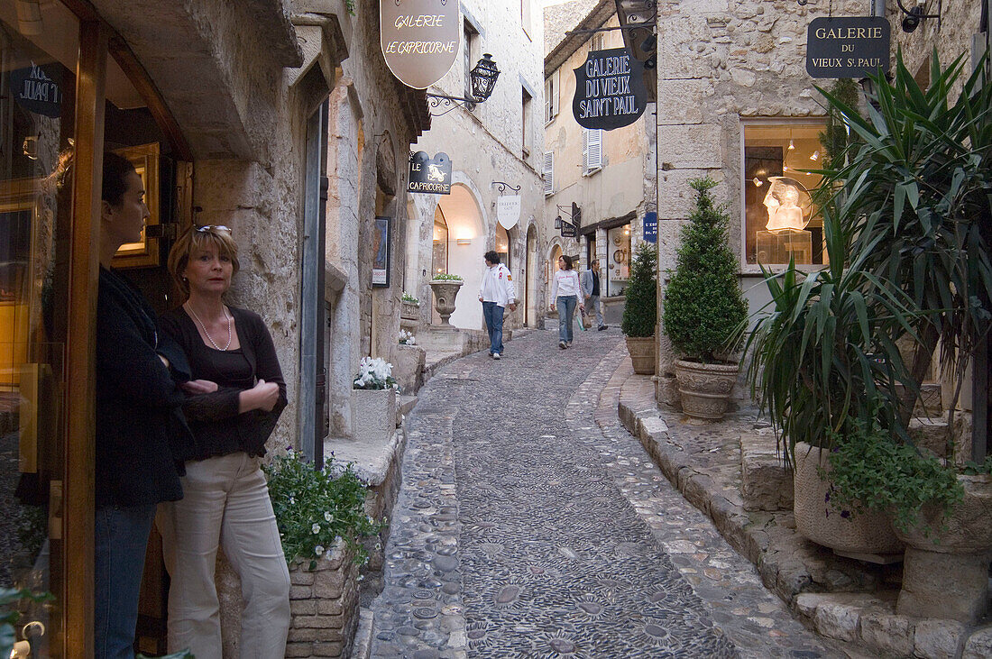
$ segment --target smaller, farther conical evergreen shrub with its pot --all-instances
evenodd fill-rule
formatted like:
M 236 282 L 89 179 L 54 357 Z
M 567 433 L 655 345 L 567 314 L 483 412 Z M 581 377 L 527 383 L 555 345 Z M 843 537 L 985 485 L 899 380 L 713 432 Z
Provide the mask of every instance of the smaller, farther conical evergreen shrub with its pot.
M 627 352 L 634 373 L 655 374 L 655 325 L 658 323 L 658 253 L 641 243 L 634 255 L 620 329 L 627 337 Z

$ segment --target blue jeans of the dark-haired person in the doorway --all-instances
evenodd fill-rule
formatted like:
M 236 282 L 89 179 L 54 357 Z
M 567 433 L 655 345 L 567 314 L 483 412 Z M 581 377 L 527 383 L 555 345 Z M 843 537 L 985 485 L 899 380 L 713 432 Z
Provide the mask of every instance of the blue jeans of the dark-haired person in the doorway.
M 155 505 L 96 508 L 93 571 L 96 659 L 133 659 L 138 596 Z

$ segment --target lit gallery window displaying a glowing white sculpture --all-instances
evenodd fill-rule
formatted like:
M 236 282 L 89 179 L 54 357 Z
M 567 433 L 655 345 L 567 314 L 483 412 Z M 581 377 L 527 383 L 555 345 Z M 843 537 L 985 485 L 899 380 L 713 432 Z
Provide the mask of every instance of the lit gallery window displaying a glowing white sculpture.
M 810 193 L 822 165 L 822 122 L 745 124 L 744 251 L 747 264 L 823 263 L 823 221 Z

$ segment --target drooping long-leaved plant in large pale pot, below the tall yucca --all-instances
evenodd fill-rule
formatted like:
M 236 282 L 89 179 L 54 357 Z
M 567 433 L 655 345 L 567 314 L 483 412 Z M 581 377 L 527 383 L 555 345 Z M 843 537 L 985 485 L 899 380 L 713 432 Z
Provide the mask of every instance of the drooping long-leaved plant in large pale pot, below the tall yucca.
M 752 395 L 784 442 L 787 463 L 797 442 L 829 449 L 879 414 L 884 427 L 898 428 L 896 384 L 912 386 L 900 380 L 895 343 L 913 334 L 908 297 L 865 269 L 867 255 L 845 263 L 852 236 L 831 204 L 821 210 L 829 265 L 810 274 L 795 263 L 778 275 L 763 268 L 772 301 L 756 314 L 744 349 Z

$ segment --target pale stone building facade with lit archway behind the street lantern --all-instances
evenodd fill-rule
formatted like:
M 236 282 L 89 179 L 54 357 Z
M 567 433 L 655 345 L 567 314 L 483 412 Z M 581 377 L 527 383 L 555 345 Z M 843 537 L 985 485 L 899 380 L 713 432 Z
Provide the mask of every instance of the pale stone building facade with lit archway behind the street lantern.
M 433 104 L 432 128 L 411 151 L 451 159 L 450 195 L 412 194 L 407 212 L 411 247 L 403 286 L 421 301 L 421 321 L 436 323 L 429 282 L 449 273 L 464 278 L 451 323 L 458 328 L 485 327 L 478 289 L 483 255 L 495 250 L 508 263 L 520 305 L 505 318 L 506 328 L 534 327 L 545 308 L 545 273 L 539 263 L 548 238 L 542 225 L 544 194 L 541 159 L 544 107 L 541 56 L 544 28 L 537 0 L 460 4 L 462 53 L 450 71 L 428 91 L 464 97 L 469 70 L 483 54 L 500 69 L 492 95 L 473 109 L 443 101 Z M 400 161 L 406 165 L 406 159 Z M 507 185 L 502 186 L 500 182 Z M 515 191 L 518 188 L 519 191 Z M 519 221 L 509 229 L 497 223 L 501 194 L 521 195 Z M 414 246 L 419 246 L 419 249 Z

